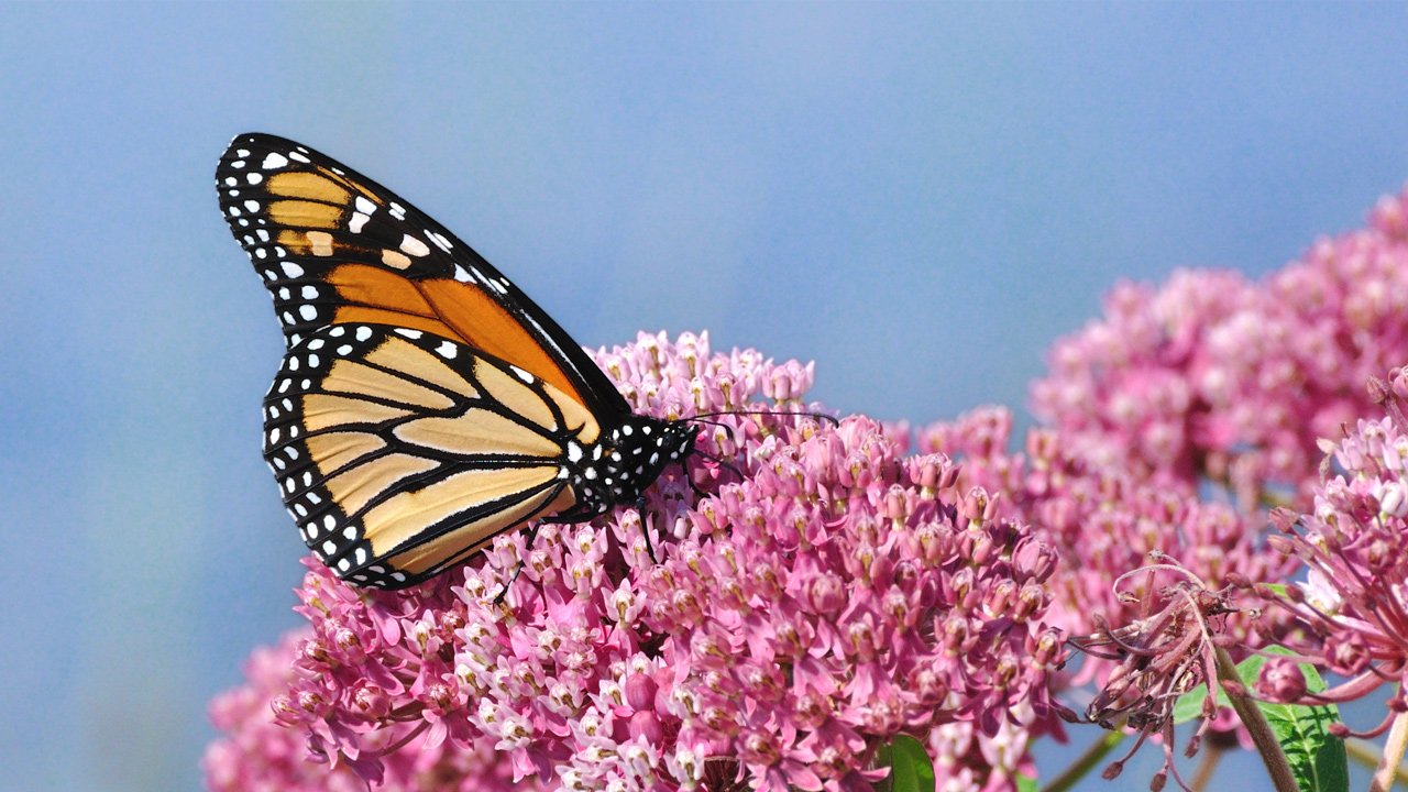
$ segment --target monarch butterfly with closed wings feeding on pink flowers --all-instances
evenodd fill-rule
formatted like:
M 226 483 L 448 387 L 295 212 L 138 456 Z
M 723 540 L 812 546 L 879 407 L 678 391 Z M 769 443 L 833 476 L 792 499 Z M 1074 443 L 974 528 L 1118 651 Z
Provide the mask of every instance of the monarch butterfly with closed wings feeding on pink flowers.
M 287 344 L 263 455 L 339 578 L 411 586 L 532 520 L 629 503 L 694 451 L 693 424 L 632 413 L 542 309 L 376 182 L 246 134 L 215 183 Z

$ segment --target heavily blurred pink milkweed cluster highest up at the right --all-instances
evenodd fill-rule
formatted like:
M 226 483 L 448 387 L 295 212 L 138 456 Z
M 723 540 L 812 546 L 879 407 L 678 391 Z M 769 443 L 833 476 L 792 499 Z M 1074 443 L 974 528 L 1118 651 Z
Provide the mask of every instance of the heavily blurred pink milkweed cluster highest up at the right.
M 1364 382 L 1408 361 L 1405 217 L 1408 193 L 1384 197 L 1367 228 L 1262 282 L 1118 285 L 1102 318 L 1052 348 L 1033 410 L 1138 478 L 1219 482 L 1247 512 L 1287 489 L 1308 505 L 1316 440 L 1369 414 Z

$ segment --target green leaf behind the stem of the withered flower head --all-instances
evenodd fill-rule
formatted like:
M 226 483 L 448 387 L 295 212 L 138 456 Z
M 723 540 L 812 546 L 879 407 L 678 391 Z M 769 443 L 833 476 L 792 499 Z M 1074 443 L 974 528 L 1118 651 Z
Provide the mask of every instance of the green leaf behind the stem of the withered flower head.
M 1267 654 L 1291 655 L 1294 652 L 1281 647 L 1269 647 Z M 1262 674 L 1266 658 L 1252 655 L 1238 664 L 1238 676 L 1247 689 L 1255 689 L 1256 678 Z M 1325 689 L 1315 667 L 1301 664 L 1305 674 L 1305 689 L 1318 693 Z M 1186 723 L 1202 714 L 1202 700 L 1208 698 L 1207 686 L 1198 688 L 1183 698 L 1173 707 L 1174 723 Z M 1271 733 L 1286 751 L 1286 758 L 1291 764 L 1295 781 L 1302 792 L 1347 792 L 1349 791 L 1349 757 L 1345 753 L 1345 741 L 1329 733 L 1329 724 L 1339 723 L 1339 707 L 1325 706 L 1295 706 L 1255 702 L 1271 724 Z M 1232 706 L 1228 695 L 1218 689 L 1218 706 Z

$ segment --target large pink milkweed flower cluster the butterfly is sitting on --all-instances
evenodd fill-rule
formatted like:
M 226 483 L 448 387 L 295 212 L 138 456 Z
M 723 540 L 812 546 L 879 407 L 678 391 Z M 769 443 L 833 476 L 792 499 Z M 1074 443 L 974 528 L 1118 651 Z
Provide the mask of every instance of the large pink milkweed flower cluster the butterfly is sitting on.
M 270 699 L 325 772 L 383 784 L 407 751 L 487 745 L 514 789 L 860 791 L 908 733 L 966 786 L 1014 788 L 1055 707 L 1053 550 L 946 457 L 905 457 L 863 417 L 787 414 L 811 366 L 663 334 L 596 359 L 636 412 L 732 412 L 698 443 L 727 462 L 406 592 L 310 564 L 282 692 L 258 671 L 263 693 L 231 696 Z M 739 413 L 759 395 L 774 414 Z M 217 745 L 266 722 L 232 714 Z M 231 764 L 207 772 L 259 772 Z

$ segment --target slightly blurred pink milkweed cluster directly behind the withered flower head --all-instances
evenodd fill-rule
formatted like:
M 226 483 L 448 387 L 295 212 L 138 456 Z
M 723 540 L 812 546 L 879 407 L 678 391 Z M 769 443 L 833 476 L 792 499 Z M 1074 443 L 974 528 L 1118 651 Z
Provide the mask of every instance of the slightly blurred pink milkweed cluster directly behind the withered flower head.
M 1173 579 L 1160 579 L 1159 588 L 1195 579 L 1202 589 L 1221 590 L 1232 581 L 1284 579 L 1298 567 L 1262 540 L 1255 517 L 1231 505 L 1202 502 L 1177 488 L 1098 465 L 1057 430 L 1032 428 L 1025 451 L 1011 452 L 1011 433 L 1008 410 L 984 407 L 922 428 L 918 445 L 921 452 L 960 461 L 959 488 L 980 486 L 998 495 L 998 514 L 1032 526 L 1036 537 L 1057 550 L 1062 564 L 1046 582 L 1052 596 L 1046 619 L 1071 636 L 1145 619 L 1146 579 L 1125 576 L 1155 555 L 1178 569 Z M 1257 605 L 1247 595 L 1238 602 Z M 1250 610 L 1233 607 L 1218 629 L 1239 643 L 1260 640 Z M 1091 655 L 1077 676 L 1062 682 L 1104 685 L 1115 668 L 1110 658 Z M 1229 719 L 1231 713 L 1219 726 Z

